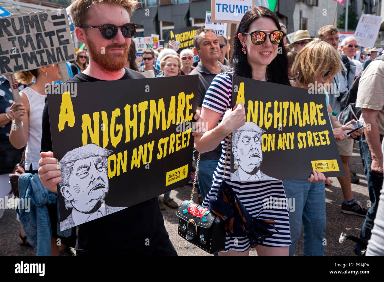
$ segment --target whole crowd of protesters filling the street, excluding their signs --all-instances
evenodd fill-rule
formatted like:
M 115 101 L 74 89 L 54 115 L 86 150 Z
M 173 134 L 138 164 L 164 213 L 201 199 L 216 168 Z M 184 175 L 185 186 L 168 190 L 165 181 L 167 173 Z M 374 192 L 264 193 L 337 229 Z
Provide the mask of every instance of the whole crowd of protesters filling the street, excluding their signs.
M 91 0 L 76 0 L 73 3 L 71 14 L 76 26 L 75 33 L 79 41 L 86 43 L 88 49 L 76 51 L 76 60 L 68 65 L 71 77 L 68 82 L 139 79 L 144 78 L 141 72 L 148 71 L 153 72 L 151 77 L 198 75 L 195 119 L 207 121 L 209 126 L 204 128 L 204 132 L 200 130 L 194 133 L 194 152 L 190 160 L 197 166 L 200 153 L 196 184 L 199 204 L 209 208 L 209 200 L 216 197 L 224 175 L 230 174 L 230 166 L 224 170 L 226 157 L 228 162 L 231 158 L 231 150 L 227 150 L 230 147 L 227 136 L 245 123 L 243 105 L 240 103 L 233 109 L 231 106 L 232 75 L 303 89 L 309 89 L 310 85 L 317 82 L 316 85 L 324 86 L 324 89 L 319 89 L 324 91 L 318 95 L 324 95 L 346 174 L 344 177 L 337 177 L 344 197 L 340 199 L 341 212 L 365 217 L 362 227 L 355 226 L 361 227 L 360 238 L 363 240 L 356 244 L 354 252 L 356 255 L 384 253 L 384 204 L 379 205 L 379 199 L 384 201 L 381 149 L 384 135 L 384 61 L 375 60 L 379 55 L 377 48 L 361 48 L 353 36 L 344 38 L 339 44 L 339 31 L 332 25 L 320 28 L 318 38 L 311 38 L 306 30 L 298 30 L 293 42 L 287 43 L 286 26 L 279 22 L 276 14 L 264 7 L 252 7 L 238 25 L 234 38 L 218 36 L 214 30 L 200 28 L 195 34 L 193 49 L 177 52 L 173 48 L 173 42 L 169 41 L 168 48 L 145 49 L 142 56 L 138 56 L 140 60 L 137 60 L 133 35 L 124 37 L 119 29 L 113 41 L 121 46 L 129 46 L 127 56 L 116 59 L 107 53 L 105 56 L 111 58 L 101 60 L 96 53 L 102 46 L 108 46 L 110 39 L 104 38 L 97 29 L 88 29 L 85 33 L 85 28 L 80 26 L 96 25 L 99 21 L 116 25 L 130 22 L 136 1 L 111 3 L 114 1 L 93 3 Z M 101 6 L 103 12 L 97 9 Z M 233 46 L 230 46 L 232 40 Z M 15 77 L 20 83 L 22 103 L 13 102 L 7 78 L 0 77 L 0 90 L 4 92 L 0 96 L 0 141 L 5 160 L 1 164 L 1 173 L 12 172 L 13 166 L 24 154 L 25 172 L 30 173 L 31 177 L 35 177 L 36 181 L 55 195 L 56 184 L 60 183 L 61 178 L 52 152 L 45 84 L 61 80 L 58 65 L 19 72 Z M 339 120 L 339 114 L 344 110 L 340 101 L 348 95 L 357 78 L 359 84 L 356 106 L 362 108 L 362 117 L 371 128 L 364 132 L 356 131 L 348 137 L 344 131 L 353 130 L 351 125 L 355 120 L 347 123 Z M 332 84 L 337 87 L 330 87 Z M 336 89 L 336 93 L 329 93 L 329 89 Z M 331 114 L 335 111 L 336 115 Z M 356 172 L 349 169 L 349 159 L 355 142 L 353 138 L 360 145 L 372 203 L 369 209 L 355 200 L 351 189 L 351 183 L 359 181 Z M 194 172 L 190 172 L 189 184 L 192 184 L 193 179 Z M 1 181 L 4 184 L 3 175 Z M 226 179 L 226 182 L 240 201 L 247 201 L 246 210 L 251 216 L 278 222 L 278 231 L 271 229 L 272 235 L 256 246 L 258 255 L 293 255 L 302 226 L 303 254 L 324 255 L 325 185 L 329 185 L 330 181 L 323 173 L 313 171 L 308 179 L 272 180 L 259 175 L 252 181 Z M 2 185 L 2 198 L 9 192 L 6 187 L 7 185 Z M 269 197 L 295 198 L 295 211 L 288 212 L 287 208 L 278 208 L 274 213 L 266 212 L 260 202 Z M 113 213 L 108 216 L 108 220 L 98 218 L 79 225 L 77 232 L 76 227 L 59 232 L 60 228 L 56 228 L 58 204 L 57 200 L 52 200 L 47 204 L 52 235 L 50 241 L 45 242 L 45 254 L 49 254 L 50 250 L 51 255 L 74 255 L 69 248 L 72 247 L 77 255 L 175 255 L 177 253 L 165 229 L 161 210 L 165 210 L 166 205 L 175 209 L 179 204 L 170 198 L 169 191 L 162 197 Z M 0 210 L 0 218 L 2 213 Z M 142 216 L 138 218 L 136 215 Z M 22 218 L 25 216 L 25 213 L 20 215 Z M 31 244 L 36 248 L 36 240 L 31 242 L 28 231 L 26 233 L 22 223 L 20 226 L 20 244 Z M 143 238 L 149 238 L 153 242 L 150 247 L 141 244 Z M 62 242 L 60 246 L 56 245 L 57 239 Z M 368 244 L 369 239 L 371 241 Z M 249 249 L 247 237 L 234 237 L 227 233 L 225 249 L 220 255 L 248 255 Z

